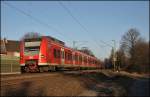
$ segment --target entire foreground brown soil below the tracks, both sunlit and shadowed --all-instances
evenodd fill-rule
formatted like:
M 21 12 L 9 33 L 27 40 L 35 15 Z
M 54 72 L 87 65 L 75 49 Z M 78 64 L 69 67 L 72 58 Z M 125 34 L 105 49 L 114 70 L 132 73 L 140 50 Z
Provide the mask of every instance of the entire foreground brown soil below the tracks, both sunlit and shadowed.
M 110 71 L 28 76 L 5 76 L 1 81 L 1 96 L 136 96 L 136 92 L 149 95 L 148 79 L 145 83 L 140 78 Z

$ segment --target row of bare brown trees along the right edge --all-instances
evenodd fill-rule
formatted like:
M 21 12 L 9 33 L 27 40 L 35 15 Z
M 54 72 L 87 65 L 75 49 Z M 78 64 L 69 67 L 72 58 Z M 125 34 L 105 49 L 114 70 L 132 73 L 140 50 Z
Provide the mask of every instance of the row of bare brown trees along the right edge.
M 150 71 L 149 42 L 140 35 L 136 28 L 129 29 L 121 37 L 119 49 L 116 52 L 112 49 L 110 57 L 104 60 L 105 68 L 114 68 L 115 53 L 117 69 L 148 73 Z

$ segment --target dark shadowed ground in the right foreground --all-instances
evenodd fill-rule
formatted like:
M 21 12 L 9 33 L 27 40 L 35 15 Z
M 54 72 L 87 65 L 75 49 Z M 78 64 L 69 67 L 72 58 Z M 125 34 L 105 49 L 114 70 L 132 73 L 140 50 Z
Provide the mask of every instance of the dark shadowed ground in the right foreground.
M 149 96 L 149 78 L 132 78 L 127 75 L 106 76 L 101 72 L 67 74 L 79 77 L 84 87 L 97 96 Z M 88 95 L 85 95 L 88 96 Z

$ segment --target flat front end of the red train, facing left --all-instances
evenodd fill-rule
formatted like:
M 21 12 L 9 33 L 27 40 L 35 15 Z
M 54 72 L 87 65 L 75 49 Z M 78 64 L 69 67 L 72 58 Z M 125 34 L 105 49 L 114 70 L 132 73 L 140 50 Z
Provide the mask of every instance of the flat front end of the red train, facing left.
M 21 72 L 39 72 L 42 38 L 24 39 L 20 44 Z

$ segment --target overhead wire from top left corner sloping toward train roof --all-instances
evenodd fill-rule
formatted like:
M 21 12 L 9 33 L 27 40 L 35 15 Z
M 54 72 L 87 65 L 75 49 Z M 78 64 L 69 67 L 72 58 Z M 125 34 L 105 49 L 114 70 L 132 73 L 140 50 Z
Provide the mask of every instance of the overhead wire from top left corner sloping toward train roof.
M 49 29 L 51 29 L 51 30 L 54 30 L 54 31 L 58 32 L 61 36 L 64 37 L 64 35 L 63 35 L 62 33 L 60 33 L 59 30 L 55 29 L 55 28 L 52 27 L 51 25 L 49 25 L 49 24 L 47 24 L 47 23 L 41 21 L 40 19 L 38 19 L 38 18 L 32 16 L 31 14 L 29 14 L 29 13 L 27 13 L 27 12 L 25 12 L 25 11 L 23 11 L 23 10 L 21 10 L 21 9 L 19 9 L 19 8 L 17 8 L 17 7 L 15 7 L 15 6 L 13 6 L 13 5 L 10 4 L 10 3 L 4 2 L 4 4 L 7 5 L 7 6 L 9 6 L 10 8 L 13 8 L 13 9 L 15 9 L 16 11 L 18 11 L 18 12 L 24 14 L 25 16 L 29 17 L 30 19 L 32 19 L 32 20 L 34 20 L 34 21 L 40 23 L 41 25 L 43 25 L 43 26 L 45 26 L 45 27 L 47 27 L 47 28 L 49 28 Z M 65 38 L 66 38 L 66 37 L 65 37 Z

